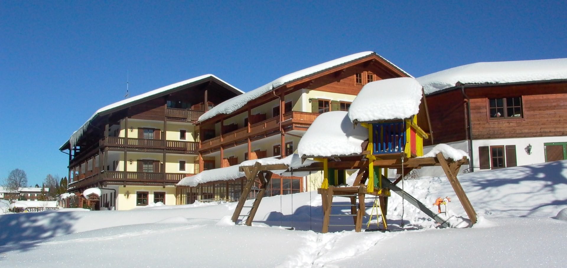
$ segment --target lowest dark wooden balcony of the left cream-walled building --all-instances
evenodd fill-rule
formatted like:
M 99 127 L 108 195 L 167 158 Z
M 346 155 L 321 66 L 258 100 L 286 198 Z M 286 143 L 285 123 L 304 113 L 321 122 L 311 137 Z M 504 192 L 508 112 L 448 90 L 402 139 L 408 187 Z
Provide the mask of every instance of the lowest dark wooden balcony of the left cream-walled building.
M 130 183 L 177 183 L 181 179 L 194 175 L 189 173 L 154 173 L 154 172 L 136 172 L 136 171 L 103 171 L 100 176 L 97 173 L 92 173 L 90 176 L 86 174 L 80 174 L 78 176 L 78 181 L 74 181 L 69 184 L 69 189 L 79 189 L 81 187 L 87 187 L 94 185 L 95 183 L 101 181 L 111 181 L 111 182 L 130 182 Z

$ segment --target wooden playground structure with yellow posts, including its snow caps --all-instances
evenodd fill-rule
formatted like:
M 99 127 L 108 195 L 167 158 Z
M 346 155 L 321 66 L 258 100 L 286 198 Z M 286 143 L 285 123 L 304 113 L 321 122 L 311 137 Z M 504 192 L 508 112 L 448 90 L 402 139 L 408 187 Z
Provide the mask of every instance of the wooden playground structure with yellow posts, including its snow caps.
M 396 94 L 395 98 L 401 98 L 399 107 L 392 105 L 398 101 L 391 98 L 392 93 Z M 399 108 L 400 112 L 389 111 L 395 108 Z M 334 129 L 336 133 L 329 129 Z M 446 220 L 397 186 L 414 169 L 441 166 L 471 225 L 476 223 L 476 212 L 457 179 L 460 167 L 468 164 L 466 154 L 463 152 L 462 155 L 455 156 L 454 153 L 451 154 L 452 148 L 440 146 L 424 156 L 423 143 L 426 139 L 433 137 L 424 93 L 417 81 L 413 78 L 392 78 L 368 83 L 354 99 L 348 114 L 342 111 L 321 114 L 303 136 L 298 146 L 299 157 L 302 160 L 312 158 L 316 162 L 297 165 L 284 163 L 285 161 L 276 164 L 262 164 L 257 161 L 250 166 L 240 165 L 247 181 L 232 215 L 232 221 L 236 223 L 239 217 L 244 217 L 246 225 L 252 224 L 265 187 L 272 177 L 272 171 L 286 170 L 297 173 L 322 170 L 323 182 L 318 193 L 323 201 L 323 233 L 328 232 L 330 226 L 346 226 L 331 223 L 331 217 L 345 216 L 333 215 L 331 208 L 335 206 L 350 208 L 354 230 L 360 232 L 368 195 L 375 199 L 373 211 L 377 211 L 376 218 L 382 219 L 383 228 L 380 230 L 387 230 L 387 204 L 391 191 L 419 208 L 440 226 L 450 227 Z M 324 148 L 325 145 L 332 148 Z M 444 156 L 443 153 L 450 157 Z M 358 170 L 356 179 L 352 186 L 346 186 L 344 171 L 352 169 Z M 388 169 L 396 170 L 395 180 L 388 179 Z M 259 192 L 252 206 L 248 207 L 248 214 L 243 215 L 242 210 L 245 208 L 248 193 L 257 181 L 260 185 Z M 336 196 L 349 198 L 350 204 L 333 204 L 333 198 Z

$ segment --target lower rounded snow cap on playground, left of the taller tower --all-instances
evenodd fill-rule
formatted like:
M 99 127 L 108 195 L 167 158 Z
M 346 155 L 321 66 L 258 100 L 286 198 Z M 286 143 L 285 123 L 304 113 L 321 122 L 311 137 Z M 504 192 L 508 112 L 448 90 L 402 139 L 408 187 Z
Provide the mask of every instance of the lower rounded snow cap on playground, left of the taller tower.
M 362 142 L 367 139 L 368 130 L 360 124 L 353 128 L 348 112 L 325 112 L 317 116 L 299 140 L 297 151 L 299 157 L 348 156 L 362 153 Z

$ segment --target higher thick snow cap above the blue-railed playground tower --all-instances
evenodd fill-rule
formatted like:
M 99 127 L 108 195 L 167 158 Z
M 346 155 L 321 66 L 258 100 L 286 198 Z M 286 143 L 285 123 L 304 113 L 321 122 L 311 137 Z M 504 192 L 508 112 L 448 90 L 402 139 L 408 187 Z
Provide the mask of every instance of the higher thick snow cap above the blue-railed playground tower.
M 405 119 L 416 115 L 420 110 L 421 88 L 411 77 L 367 83 L 350 104 L 350 121 Z

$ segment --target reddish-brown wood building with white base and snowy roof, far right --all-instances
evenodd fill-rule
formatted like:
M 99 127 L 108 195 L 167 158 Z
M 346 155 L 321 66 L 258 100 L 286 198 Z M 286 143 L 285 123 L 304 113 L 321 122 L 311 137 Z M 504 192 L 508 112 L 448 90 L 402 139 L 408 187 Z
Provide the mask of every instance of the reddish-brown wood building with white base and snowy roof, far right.
M 468 152 L 469 170 L 567 159 L 567 58 L 478 62 L 417 80 L 433 143 Z

